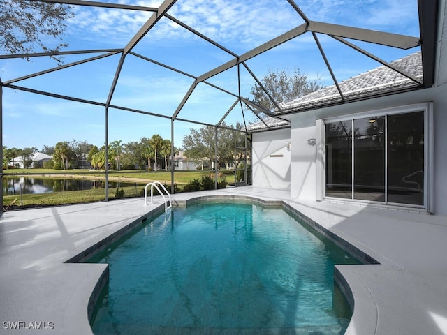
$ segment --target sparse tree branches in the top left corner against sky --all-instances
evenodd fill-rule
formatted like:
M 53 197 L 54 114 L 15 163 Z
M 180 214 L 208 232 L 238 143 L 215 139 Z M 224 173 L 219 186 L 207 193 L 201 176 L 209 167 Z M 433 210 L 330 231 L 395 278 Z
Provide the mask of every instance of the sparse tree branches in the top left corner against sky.
M 40 47 L 43 52 L 57 52 L 68 44 L 61 35 L 66 20 L 74 17 L 70 6 L 27 0 L 0 1 L 0 49 L 8 54 L 29 54 Z M 47 45 L 59 39 L 59 44 Z M 38 51 L 41 51 L 38 50 Z M 29 57 L 24 57 L 29 61 Z M 61 59 L 52 56 L 61 64 Z

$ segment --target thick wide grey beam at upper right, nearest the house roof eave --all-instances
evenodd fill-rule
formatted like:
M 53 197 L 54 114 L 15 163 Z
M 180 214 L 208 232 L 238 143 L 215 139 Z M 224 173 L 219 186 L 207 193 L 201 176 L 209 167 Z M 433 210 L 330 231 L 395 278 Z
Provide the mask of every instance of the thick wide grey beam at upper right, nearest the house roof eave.
M 351 38 L 353 40 L 362 40 L 364 42 L 386 45 L 388 47 L 398 47 L 404 50 L 410 49 L 411 47 L 417 47 L 420 43 L 418 37 L 391 34 L 383 31 L 347 27 L 339 24 L 316 21 L 311 21 L 308 29 L 309 31 L 314 31 L 314 33 Z

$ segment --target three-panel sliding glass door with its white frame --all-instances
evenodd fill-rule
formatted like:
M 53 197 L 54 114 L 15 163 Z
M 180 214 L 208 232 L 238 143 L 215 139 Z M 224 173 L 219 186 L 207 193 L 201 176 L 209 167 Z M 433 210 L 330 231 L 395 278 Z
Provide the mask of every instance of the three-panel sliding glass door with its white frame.
M 421 104 L 320 121 L 321 198 L 430 211 L 430 113 Z

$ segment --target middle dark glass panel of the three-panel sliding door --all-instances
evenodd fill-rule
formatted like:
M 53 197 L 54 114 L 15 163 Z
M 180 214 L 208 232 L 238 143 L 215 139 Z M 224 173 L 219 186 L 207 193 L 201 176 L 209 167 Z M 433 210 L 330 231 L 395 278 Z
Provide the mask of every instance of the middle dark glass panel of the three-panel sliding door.
M 385 201 L 385 117 L 354 120 L 354 199 Z

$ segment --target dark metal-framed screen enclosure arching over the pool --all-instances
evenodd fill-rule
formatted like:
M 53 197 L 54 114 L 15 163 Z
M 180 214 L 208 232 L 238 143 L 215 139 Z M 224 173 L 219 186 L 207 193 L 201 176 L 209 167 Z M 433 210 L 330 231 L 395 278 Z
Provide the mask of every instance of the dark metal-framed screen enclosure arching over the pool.
M 215 187 L 219 143 L 228 136 L 235 186 L 246 185 L 254 133 L 290 127 L 290 114 L 424 89 L 434 81 L 434 0 L 31 2 L 68 6 L 71 15 L 61 40 L 43 41 L 66 44 L 59 50 L 0 55 L 1 140 L 8 148 L 70 140 L 101 147 L 159 134 L 170 140 L 174 162 L 191 129 L 210 127 Z M 419 59 L 416 72 L 393 63 L 412 54 Z M 378 66 L 403 84 L 377 89 L 372 82 L 354 90 L 346 84 Z M 330 89 L 330 99 L 300 103 L 306 93 L 278 98 L 266 75 L 297 69 Z M 230 132 L 219 138 L 223 129 Z M 174 163 L 169 170 L 174 191 Z M 101 173 L 108 200 L 107 164 Z

